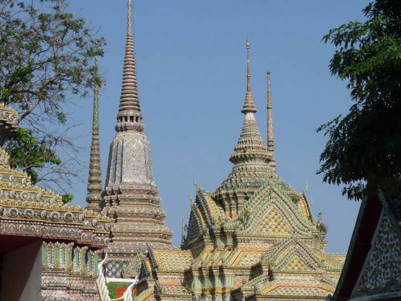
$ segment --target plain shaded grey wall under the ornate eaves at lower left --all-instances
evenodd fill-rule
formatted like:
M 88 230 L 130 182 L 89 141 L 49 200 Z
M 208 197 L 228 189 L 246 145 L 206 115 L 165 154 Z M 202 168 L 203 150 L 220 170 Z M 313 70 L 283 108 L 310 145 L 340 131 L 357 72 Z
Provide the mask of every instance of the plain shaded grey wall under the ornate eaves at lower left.
M 1 301 L 41 299 L 42 241 L 3 256 Z

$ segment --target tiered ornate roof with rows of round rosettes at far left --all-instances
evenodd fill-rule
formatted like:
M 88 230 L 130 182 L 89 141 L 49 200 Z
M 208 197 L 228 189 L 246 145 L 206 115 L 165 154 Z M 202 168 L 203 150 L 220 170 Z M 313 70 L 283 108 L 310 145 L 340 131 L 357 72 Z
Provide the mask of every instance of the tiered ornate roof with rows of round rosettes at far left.
M 0 115 L 4 116 L 2 111 L 13 118 L 17 116 L 0 105 Z M 15 120 L 11 117 L 8 119 Z M 9 125 L 0 124 L 0 132 L 5 126 Z M 15 131 L 17 126 L 13 128 Z M 24 171 L 14 169 L 10 164 L 6 150 L 0 148 L 0 234 L 106 245 L 110 223 L 104 212 L 63 204 L 59 194 L 32 185 Z

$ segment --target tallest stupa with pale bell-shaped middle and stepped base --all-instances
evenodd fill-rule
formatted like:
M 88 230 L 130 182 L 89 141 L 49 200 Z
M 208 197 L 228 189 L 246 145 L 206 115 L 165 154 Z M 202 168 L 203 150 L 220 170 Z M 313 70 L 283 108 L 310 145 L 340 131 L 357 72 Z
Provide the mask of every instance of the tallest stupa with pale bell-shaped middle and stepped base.
M 117 135 L 110 144 L 105 189 L 101 207 L 106 208 L 112 225 L 108 245 L 106 276 L 120 277 L 131 256 L 146 249 L 146 242 L 160 249 L 173 249 L 172 232 L 164 226 L 166 214 L 153 176 L 150 143 L 143 134 L 144 124 L 136 81 L 132 34 L 132 4 L 128 0 L 127 40 Z

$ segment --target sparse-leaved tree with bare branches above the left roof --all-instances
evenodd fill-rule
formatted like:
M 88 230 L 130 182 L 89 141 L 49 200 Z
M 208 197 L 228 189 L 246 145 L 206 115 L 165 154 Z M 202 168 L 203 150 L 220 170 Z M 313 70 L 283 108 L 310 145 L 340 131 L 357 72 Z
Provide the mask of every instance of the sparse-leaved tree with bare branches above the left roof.
M 0 27 L 0 102 L 17 109 L 20 122 L 5 144 L 12 165 L 65 192 L 82 181 L 82 147 L 69 130 L 79 125 L 79 99 L 101 83 L 92 61 L 105 40 L 66 0 L 0 0 Z

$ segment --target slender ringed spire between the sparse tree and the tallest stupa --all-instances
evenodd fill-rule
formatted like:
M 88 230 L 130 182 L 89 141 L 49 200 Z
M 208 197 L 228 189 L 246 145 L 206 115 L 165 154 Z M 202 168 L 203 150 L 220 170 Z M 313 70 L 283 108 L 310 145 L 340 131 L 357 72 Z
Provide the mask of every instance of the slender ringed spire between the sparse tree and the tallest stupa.
M 96 50 L 98 43 L 96 42 Z M 93 89 L 93 121 L 92 121 L 92 143 L 89 164 L 88 194 L 86 208 L 93 211 L 100 211 L 99 203 L 102 200 L 102 178 L 100 170 L 100 149 L 99 149 L 99 86 L 98 86 L 98 57 L 95 56 L 95 86 Z

